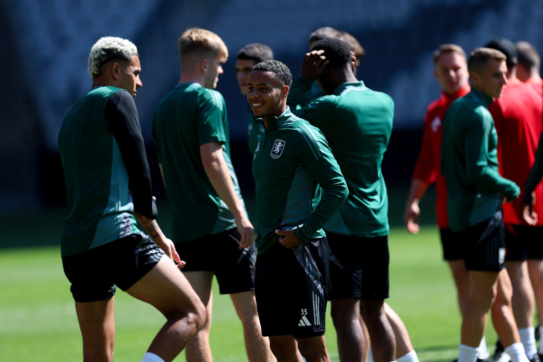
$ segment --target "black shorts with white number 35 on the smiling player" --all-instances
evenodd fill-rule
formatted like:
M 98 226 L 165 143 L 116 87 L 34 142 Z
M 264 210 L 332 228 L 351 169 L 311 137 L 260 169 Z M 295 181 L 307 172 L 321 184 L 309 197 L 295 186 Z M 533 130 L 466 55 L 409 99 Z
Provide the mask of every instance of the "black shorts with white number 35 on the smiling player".
M 256 258 L 256 307 L 262 335 L 324 335 L 329 251 L 326 238 L 287 249 L 275 243 Z

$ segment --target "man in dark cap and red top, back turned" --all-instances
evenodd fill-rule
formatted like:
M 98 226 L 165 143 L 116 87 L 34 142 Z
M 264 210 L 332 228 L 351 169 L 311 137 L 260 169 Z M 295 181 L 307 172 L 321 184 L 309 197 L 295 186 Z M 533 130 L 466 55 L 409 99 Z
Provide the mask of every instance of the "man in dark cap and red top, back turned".
M 528 180 L 543 130 L 541 92 L 516 78 L 517 53 L 511 41 L 497 37 L 486 47 L 500 50 L 507 57 L 507 85 L 502 96 L 488 109 L 498 136 L 500 173 L 521 185 L 522 197 L 523 185 Z M 536 200 L 543 200 L 543 187 L 536 188 L 535 194 Z M 543 215 L 543 204 L 536 202 L 534 211 Z M 535 301 L 532 284 L 534 289 L 543 290 L 543 276 L 539 274 L 537 266 L 543 261 L 543 243 L 540 241 L 543 239 L 543 220 L 535 226 L 527 224 L 522 219 L 521 199 L 516 199 L 503 205 L 503 222 L 507 245 L 505 266 L 513 285 L 515 321 L 528 359 L 539 362 L 533 326 Z M 531 275 L 529 269 L 534 271 Z M 543 305 L 543 301 L 540 300 L 539 304 Z

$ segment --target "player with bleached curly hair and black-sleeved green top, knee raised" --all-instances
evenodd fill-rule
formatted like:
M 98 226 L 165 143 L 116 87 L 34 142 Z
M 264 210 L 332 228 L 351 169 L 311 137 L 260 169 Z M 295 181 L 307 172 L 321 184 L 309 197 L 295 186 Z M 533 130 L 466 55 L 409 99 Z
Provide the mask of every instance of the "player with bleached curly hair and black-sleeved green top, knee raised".
M 205 321 L 204 305 L 171 258 L 179 268 L 184 262 L 155 221 L 132 98 L 142 86 L 140 72 L 133 43 L 99 39 L 89 55 L 92 88 L 68 111 L 59 132 L 68 199 L 62 265 L 72 283 L 85 361 L 113 360 L 116 285 L 167 319 L 142 361 L 173 360 Z

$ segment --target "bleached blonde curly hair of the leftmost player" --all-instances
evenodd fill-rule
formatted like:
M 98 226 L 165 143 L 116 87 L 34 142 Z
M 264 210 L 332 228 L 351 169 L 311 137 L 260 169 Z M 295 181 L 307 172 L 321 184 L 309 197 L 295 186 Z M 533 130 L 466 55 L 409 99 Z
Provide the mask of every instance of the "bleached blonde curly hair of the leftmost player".
M 113 59 L 131 61 L 132 56 L 138 56 L 137 48 L 130 40 L 114 36 L 104 36 L 98 39 L 89 54 L 89 75 L 92 79 L 100 77 L 102 66 Z

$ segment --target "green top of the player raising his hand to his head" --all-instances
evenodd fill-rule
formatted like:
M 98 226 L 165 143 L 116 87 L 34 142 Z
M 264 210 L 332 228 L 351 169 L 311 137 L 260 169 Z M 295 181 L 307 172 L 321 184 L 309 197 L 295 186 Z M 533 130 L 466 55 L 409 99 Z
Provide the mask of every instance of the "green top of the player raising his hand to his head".
M 296 78 L 287 104 L 294 109 L 311 84 L 310 79 Z M 388 196 L 381 163 L 392 132 L 392 98 L 370 90 L 363 81 L 345 82 L 334 94 L 294 113 L 323 132 L 349 187 L 347 200 L 324 230 L 356 237 L 387 235 Z

